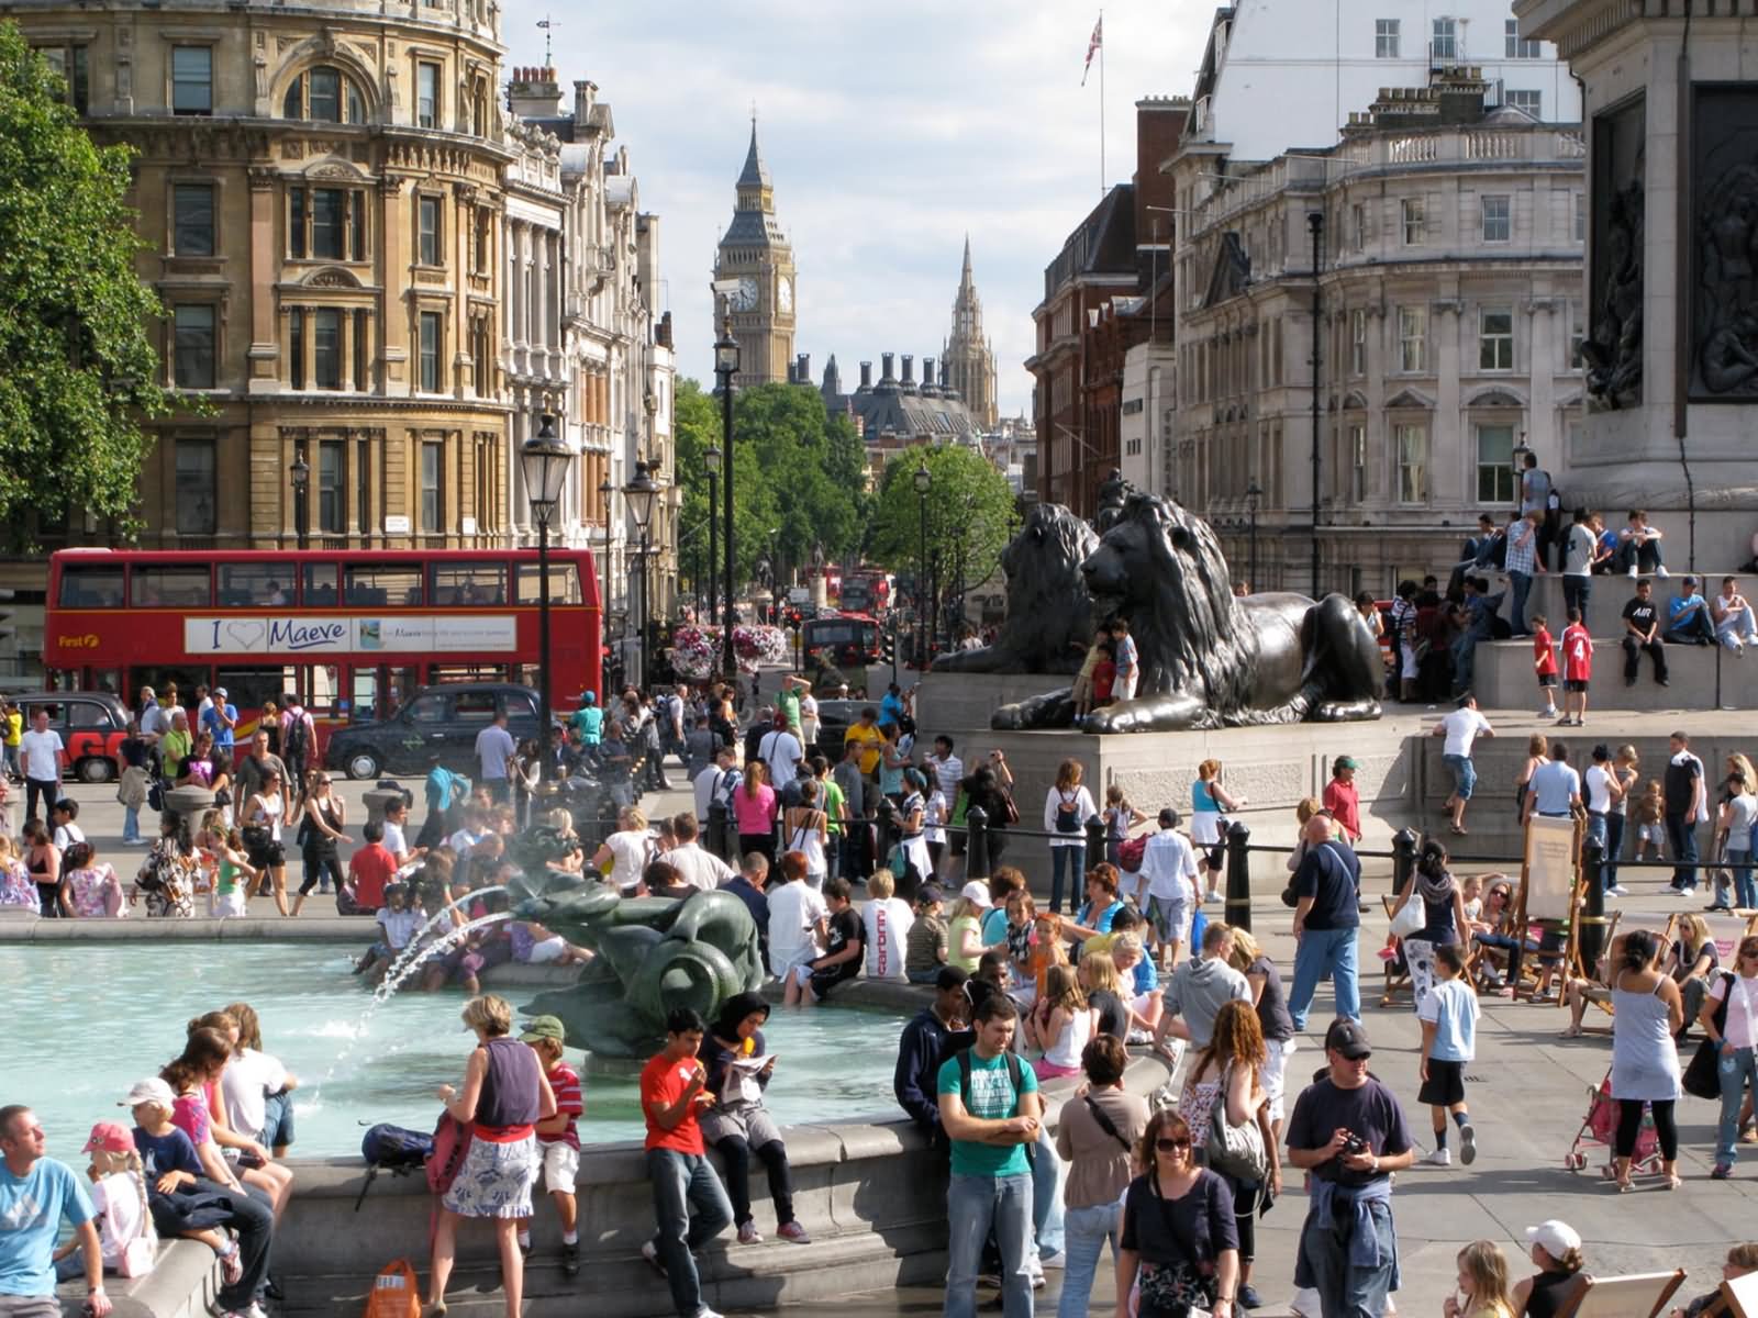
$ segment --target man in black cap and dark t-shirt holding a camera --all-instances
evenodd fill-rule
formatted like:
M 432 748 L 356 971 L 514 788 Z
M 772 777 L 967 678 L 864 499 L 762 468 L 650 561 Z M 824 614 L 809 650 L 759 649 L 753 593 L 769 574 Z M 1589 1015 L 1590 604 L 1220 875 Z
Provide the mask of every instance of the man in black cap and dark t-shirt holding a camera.
M 1368 1032 L 1338 1017 L 1324 1039 L 1329 1068 L 1294 1104 L 1289 1163 L 1308 1172 L 1294 1285 L 1318 1292 L 1318 1313 L 1385 1313 L 1398 1278 L 1392 1172 L 1415 1160 L 1396 1095 L 1368 1074 Z

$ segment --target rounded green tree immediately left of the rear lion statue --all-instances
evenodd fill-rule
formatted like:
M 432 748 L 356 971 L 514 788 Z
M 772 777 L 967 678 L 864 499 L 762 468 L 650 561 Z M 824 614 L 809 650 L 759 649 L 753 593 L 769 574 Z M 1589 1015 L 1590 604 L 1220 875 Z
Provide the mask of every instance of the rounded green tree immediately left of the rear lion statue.
M 928 494 L 916 490 L 916 469 L 928 469 Z M 886 464 L 867 554 L 893 573 L 914 578 L 926 529 L 928 582 L 935 608 L 963 582 L 976 587 L 997 571 L 1013 536 L 1013 490 L 974 448 L 923 445 Z M 926 524 L 926 525 L 925 525 Z

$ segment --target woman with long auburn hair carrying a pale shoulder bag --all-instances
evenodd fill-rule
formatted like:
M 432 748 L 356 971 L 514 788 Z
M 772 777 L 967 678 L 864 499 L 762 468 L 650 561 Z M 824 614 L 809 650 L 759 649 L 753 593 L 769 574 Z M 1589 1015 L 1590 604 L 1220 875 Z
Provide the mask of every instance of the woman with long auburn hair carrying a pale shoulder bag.
M 1215 1014 L 1215 1033 L 1210 1046 L 1197 1053 L 1185 1075 L 1185 1091 L 1178 1100 L 1178 1111 L 1190 1123 L 1197 1135 L 1197 1149 L 1208 1142 L 1210 1123 L 1215 1119 L 1215 1105 L 1225 1104 L 1225 1121 L 1229 1126 L 1255 1125 L 1264 1135 L 1264 1149 L 1269 1153 L 1269 1174 L 1273 1193 L 1280 1193 L 1282 1163 L 1276 1149 L 1276 1135 L 1269 1123 L 1269 1095 L 1262 1086 L 1264 1065 L 1269 1051 L 1264 1047 L 1264 1030 L 1257 1023 L 1257 1010 L 1248 1002 L 1234 998 Z M 1260 1300 L 1252 1290 L 1252 1258 L 1257 1251 L 1257 1181 L 1239 1181 L 1222 1176 L 1232 1191 L 1234 1228 L 1239 1235 L 1239 1293 L 1241 1307 L 1255 1309 Z

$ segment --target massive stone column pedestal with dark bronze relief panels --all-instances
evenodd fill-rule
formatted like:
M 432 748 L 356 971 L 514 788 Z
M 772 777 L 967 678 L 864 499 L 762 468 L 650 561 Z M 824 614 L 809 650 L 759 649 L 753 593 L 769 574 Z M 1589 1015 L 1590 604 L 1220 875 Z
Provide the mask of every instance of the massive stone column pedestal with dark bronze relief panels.
M 1586 88 L 1586 332 L 1600 344 L 1589 378 L 1609 385 L 1589 390 L 1563 459 L 1540 460 L 1570 506 L 1596 506 L 1609 525 L 1651 510 L 1674 571 L 1746 562 L 1758 531 L 1758 83 L 1737 14 L 1749 7 L 1515 0 L 1514 12 Z

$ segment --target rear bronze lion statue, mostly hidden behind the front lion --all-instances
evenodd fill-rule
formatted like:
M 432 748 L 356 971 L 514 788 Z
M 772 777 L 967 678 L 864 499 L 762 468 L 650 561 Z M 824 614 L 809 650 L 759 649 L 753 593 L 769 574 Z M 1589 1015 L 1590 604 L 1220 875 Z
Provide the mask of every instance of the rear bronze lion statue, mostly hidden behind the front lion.
M 1000 552 L 1007 620 L 993 645 L 942 654 L 937 673 L 1078 673 L 1093 638 L 1081 562 L 1099 536 L 1062 504 L 1034 504 Z

